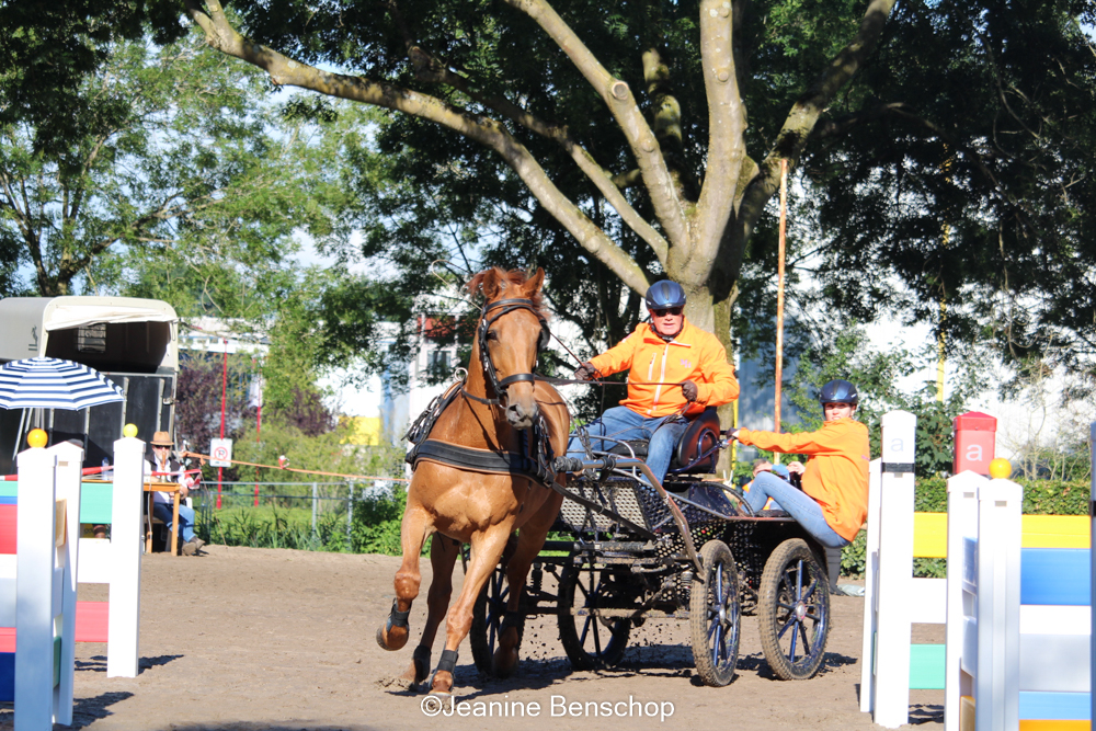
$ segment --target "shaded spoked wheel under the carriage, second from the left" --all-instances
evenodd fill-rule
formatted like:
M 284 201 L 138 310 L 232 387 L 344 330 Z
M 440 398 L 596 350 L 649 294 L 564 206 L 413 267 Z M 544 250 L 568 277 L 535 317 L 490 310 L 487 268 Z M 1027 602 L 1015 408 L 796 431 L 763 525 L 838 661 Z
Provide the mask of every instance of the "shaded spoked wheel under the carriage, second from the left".
M 625 617 L 598 617 L 590 609 L 624 609 L 632 602 L 620 578 L 602 569 L 564 566 L 559 578 L 559 640 L 574 670 L 610 667 L 624 656 L 631 632 Z

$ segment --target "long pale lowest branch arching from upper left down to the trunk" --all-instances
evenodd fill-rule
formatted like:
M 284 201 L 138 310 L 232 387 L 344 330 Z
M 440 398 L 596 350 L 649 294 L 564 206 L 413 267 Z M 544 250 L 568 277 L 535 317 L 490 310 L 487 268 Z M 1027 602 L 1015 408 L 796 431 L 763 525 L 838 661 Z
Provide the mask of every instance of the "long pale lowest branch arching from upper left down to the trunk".
M 206 42 L 217 50 L 266 71 L 278 85 L 300 87 L 328 96 L 383 106 L 453 129 L 498 152 L 529 187 L 537 201 L 586 251 L 636 290 L 647 289 L 639 265 L 581 209 L 556 187 L 533 155 L 503 127 L 486 116 L 409 89 L 378 83 L 362 77 L 330 73 L 286 58 L 275 50 L 251 43 L 228 23 L 218 0 L 206 0 L 208 13 L 198 0 L 186 0 L 191 18 L 205 32 Z M 653 137 L 652 137 L 653 140 Z

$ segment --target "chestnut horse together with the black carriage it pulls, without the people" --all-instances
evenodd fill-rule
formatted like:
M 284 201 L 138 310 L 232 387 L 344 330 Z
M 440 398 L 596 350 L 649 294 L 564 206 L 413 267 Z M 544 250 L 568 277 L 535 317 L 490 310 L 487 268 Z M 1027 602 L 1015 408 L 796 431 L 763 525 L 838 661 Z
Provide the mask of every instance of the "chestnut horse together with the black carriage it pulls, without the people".
M 688 619 L 699 675 L 720 686 L 734 675 L 741 615 L 753 610 L 774 672 L 813 675 L 830 627 L 826 553 L 791 518 L 732 507 L 721 486 L 700 477 L 727 446 L 715 410 L 685 431 L 664 484 L 635 443 L 600 452 L 587 441 L 584 459 L 552 457 L 567 453 L 570 415 L 534 373 L 549 336 L 543 281 L 539 271 L 526 277 L 488 270 L 468 285 L 487 300 L 471 365 L 409 431 L 414 476 L 403 561 L 378 643 L 406 646 L 419 557 L 433 536 L 426 623 L 404 675 L 426 679 L 445 619 L 433 694 L 452 695 L 457 648 L 469 633 L 480 669 L 512 672 L 525 618 L 534 614 L 557 616 L 579 669 L 619 661 L 631 628 L 648 619 Z M 553 528 L 569 539 L 546 546 Z M 470 544 L 470 559 L 450 607 L 463 544 Z M 555 580 L 546 581 L 546 572 Z

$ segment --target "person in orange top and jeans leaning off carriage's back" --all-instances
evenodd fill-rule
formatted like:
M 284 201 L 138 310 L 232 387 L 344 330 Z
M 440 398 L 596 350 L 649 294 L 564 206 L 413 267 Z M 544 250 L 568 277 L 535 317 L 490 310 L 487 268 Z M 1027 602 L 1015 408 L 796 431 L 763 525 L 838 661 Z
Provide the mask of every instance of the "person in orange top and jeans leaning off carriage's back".
M 856 537 L 868 514 L 868 427 L 853 419 L 859 395 L 847 380 L 823 386 L 819 402 L 825 421 L 815 432 L 735 429 L 730 436 L 747 446 L 810 455 L 807 465 L 799 466 L 802 491 L 775 475 L 761 472 L 745 495 L 746 504 L 756 513 L 773 498 L 820 544 L 842 548 Z

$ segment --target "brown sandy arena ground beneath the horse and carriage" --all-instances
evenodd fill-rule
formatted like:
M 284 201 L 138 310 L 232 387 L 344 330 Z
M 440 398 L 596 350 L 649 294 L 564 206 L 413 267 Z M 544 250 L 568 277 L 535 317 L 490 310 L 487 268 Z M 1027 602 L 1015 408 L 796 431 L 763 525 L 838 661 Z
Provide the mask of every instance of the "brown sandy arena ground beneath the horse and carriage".
M 695 677 L 687 623 L 649 621 L 633 630 L 618 669 L 572 673 L 555 617 L 530 620 L 517 676 L 482 678 L 466 640 L 456 681 L 463 700 L 522 706 L 536 701 L 541 708 L 538 718 L 427 718 L 420 708 L 426 696 L 401 689 L 391 677 L 410 662 L 425 618 L 429 561 L 423 563 L 422 594 L 411 614 L 412 640 L 400 652 L 385 652 L 374 633 L 391 605 L 398 558 L 221 546 L 206 550 L 195 558 L 161 553 L 144 558 L 137 678 L 107 678 L 106 646 L 77 646 L 76 728 L 879 728 L 857 706 L 861 598 L 832 597 L 834 625 L 823 672 L 801 683 L 773 678 L 762 659 L 755 620 L 746 617 L 739 675 L 726 688 L 704 687 Z M 458 566 L 458 589 L 460 573 Z M 84 586 L 80 598 L 104 599 L 105 587 Z M 922 631 L 915 638 L 935 639 Z M 439 637 L 435 662 L 441 644 Z M 664 721 L 635 716 L 553 718 L 553 696 L 567 704 L 629 697 L 669 703 L 673 715 Z M 943 724 L 943 690 L 917 692 L 912 700 L 915 723 Z M 562 701 L 555 703 L 558 707 Z M 0 704 L 0 729 L 11 729 L 11 705 Z

